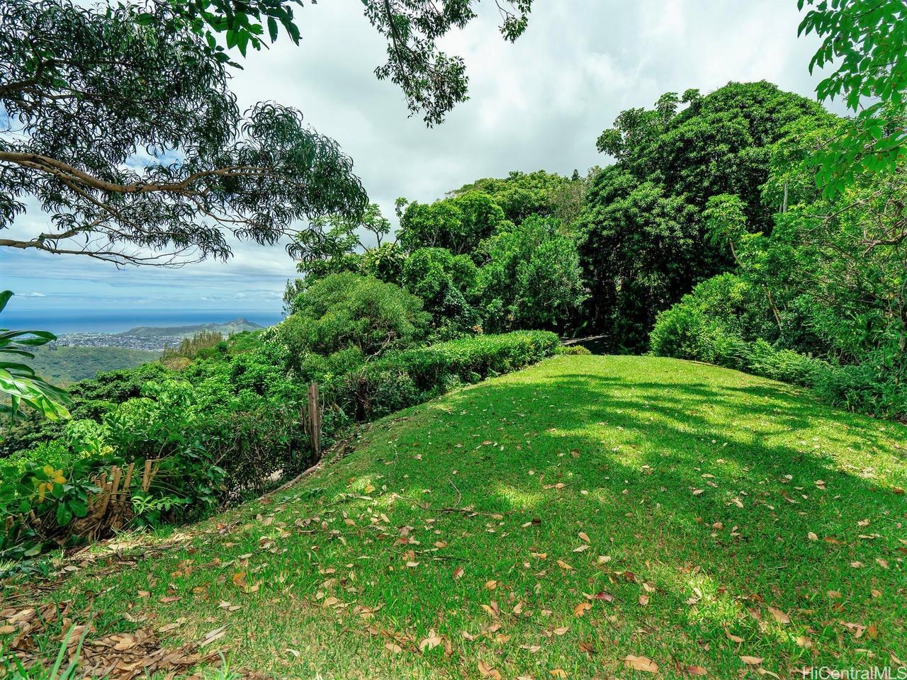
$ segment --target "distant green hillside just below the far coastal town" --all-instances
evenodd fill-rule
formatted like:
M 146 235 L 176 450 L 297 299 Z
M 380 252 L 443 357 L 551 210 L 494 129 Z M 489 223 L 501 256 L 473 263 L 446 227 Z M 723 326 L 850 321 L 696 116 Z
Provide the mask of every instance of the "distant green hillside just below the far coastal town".
M 160 352 L 126 347 L 36 347 L 28 364 L 34 372 L 54 384 L 70 384 L 93 378 L 99 371 L 118 371 L 155 361 Z

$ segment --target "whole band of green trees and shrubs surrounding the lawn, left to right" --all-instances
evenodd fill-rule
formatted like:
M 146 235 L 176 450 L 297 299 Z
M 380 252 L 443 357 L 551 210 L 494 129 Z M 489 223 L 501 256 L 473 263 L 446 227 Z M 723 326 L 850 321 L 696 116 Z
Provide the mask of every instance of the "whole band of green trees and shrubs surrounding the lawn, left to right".
M 69 423 L 15 424 L 5 554 L 199 517 L 303 469 L 312 381 L 330 442 L 565 351 L 555 333 L 907 418 L 903 170 L 814 182 L 816 152 L 851 124 L 770 83 L 668 93 L 620 114 L 599 140 L 615 162 L 585 179 L 514 172 L 400 199 L 395 233 L 375 205 L 314 219 L 281 324 L 191 338 L 75 384 Z M 152 464 L 151 483 L 94 520 L 99 475 L 131 464 Z

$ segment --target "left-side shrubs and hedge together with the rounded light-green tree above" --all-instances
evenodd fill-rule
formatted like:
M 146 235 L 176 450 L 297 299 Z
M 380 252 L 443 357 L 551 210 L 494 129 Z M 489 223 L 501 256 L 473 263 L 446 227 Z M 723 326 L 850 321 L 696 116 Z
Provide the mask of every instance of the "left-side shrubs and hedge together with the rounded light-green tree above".
M 329 444 L 353 423 L 515 370 L 560 345 L 551 333 L 516 333 L 421 347 L 420 307 L 393 284 L 333 275 L 267 332 L 200 338 L 167 365 L 74 384 L 71 420 L 24 420 L 0 442 L 0 558 L 192 520 L 266 491 L 312 462 L 304 420 L 311 381 L 321 385 Z M 387 342 L 388 334 L 398 335 Z M 131 464 L 135 479 L 151 465 L 150 483 L 133 485 L 116 512 L 98 514 L 90 500 L 102 475 Z

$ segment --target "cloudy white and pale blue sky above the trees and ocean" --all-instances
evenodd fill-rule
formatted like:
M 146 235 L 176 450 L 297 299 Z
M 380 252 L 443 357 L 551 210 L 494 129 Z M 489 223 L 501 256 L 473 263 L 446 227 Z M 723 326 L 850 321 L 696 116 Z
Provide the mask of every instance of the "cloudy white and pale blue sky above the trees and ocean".
M 814 36 L 797 38 L 795 0 L 536 0 L 515 43 L 498 33 L 491 0 L 444 40 L 463 56 L 470 100 L 428 129 L 407 118 L 403 95 L 375 79 L 385 43 L 361 0 L 321 0 L 297 9 L 303 40 L 286 35 L 249 53 L 231 88 L 245 108 L 258 101 L 297 107 L 355 161 L 369 197 L 394 219 L 397 197 L 431 201 L 511 170 L 584 173 L 609 160 L 595 150 L 619 112 L 649 107 L 664 92 L 706 93 L 729 81 L 768 80 L 814 96 L 808 73 Z M 32 209 L 12 232 L 46 228 Z M 179 269 L 127 268 L 81 256 L 0 248 L 0 290 L 10 310 L 141 309 L 278 313 L 295 267 L 280 246 L 234 243 L 229 262 Z

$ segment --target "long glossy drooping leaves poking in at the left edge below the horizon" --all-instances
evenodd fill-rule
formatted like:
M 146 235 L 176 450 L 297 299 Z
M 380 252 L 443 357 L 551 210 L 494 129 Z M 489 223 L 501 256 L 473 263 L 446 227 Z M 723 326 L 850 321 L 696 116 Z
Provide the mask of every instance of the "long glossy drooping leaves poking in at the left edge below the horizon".
M 13 292 L 0 292 L 0 312 L 5 309 Z M 0 328 L 0 393 L 9 398 L 9 403 L 0 402 L 0 413 L 15 420 L 22 405 L 30 406 L 52 420 L 68 418 L 66 406 L 71 403 L 69 395 L 59 387 L 47 383 L 34 374 L 27 364 L 6 361 L 5 357 L 24 356 L 34 359 L 29 350 L 56 340 L 48 331 L 13 331 Z

